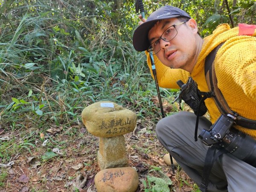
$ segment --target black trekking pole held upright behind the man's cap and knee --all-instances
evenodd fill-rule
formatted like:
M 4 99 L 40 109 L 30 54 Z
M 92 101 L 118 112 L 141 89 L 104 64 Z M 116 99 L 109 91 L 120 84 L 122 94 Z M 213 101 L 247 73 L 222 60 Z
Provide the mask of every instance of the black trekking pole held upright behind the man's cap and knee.
M 136 9 L 137 13 L 140 10 L 140 14 L 142 15 L 142 18 L 145 18 L 144 6 L 143 6 L 142 0 L 136 0 L 135 9 Z M 162 104 L 160 90 L 159 90 L 159 86 L 158 86 L 158 82 L 157 82 L 157 70 L 156 70 L 156 67 L 155 67 L 155 64 L 154 64 L 154 57 L 153 57 L 152 52 L 149 52 L 149 55 L 150 55 L 150 61 L 151 61 L 151 69 L 152 69 L 152 72 L 153 72 L 153 76 L 154 76 L 154 80 L 155 80 L 155 84 L 156 84 L 156 88 L 157 88 L 157 96 L 158 96 L 158 100 L 159 100 L 160 110 L 161 110 L 161 113 L 162 113 L 162 118 L 164 118 L 165 114 L 163 112 L 163 104 Z M 172 155 L 170 153 L 169 153 L 169 155 L 170 155 L 170 160 L 171 160 L 172 173 L 175 174 Z

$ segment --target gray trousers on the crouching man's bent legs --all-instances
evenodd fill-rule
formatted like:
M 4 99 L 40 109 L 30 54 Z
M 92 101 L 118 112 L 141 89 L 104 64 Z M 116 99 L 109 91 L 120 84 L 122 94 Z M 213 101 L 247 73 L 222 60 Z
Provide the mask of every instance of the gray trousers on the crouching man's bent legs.
M 194 140 L 196 116 L 182 111 L 165 117 L 157 123 L 156 132 L 160 143 L 177 161 L 187 175 L 200 186 L 204 159 L 208 147 L 200 139 Z M 198 134 L 212 123 L 200 117 Z M 214 162 L 209 176 L 209 192 L 253 192 L 256 191 L 256 168 L 232 154 L 222 154 Z

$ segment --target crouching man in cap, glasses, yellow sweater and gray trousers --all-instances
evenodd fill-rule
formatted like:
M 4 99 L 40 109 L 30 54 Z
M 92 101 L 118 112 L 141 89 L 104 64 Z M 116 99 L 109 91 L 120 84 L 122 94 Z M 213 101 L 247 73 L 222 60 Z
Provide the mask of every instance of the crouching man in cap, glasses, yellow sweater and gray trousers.
M 239 28 L 230 29 L 222 24 L 212 35 L 202 39 L 197 23 L 181 9 L 164 6 L 142 19 L 134 31 L 133 44 L 137 51 L 154 54 L 157 80 L 161 87 L 179 88 L 176 82 L 186 82 L 188 77 L 197 83 L 198 89 L 208 92 L 204 73 L 207 55 L 224 43 L 214 60 L 218 88 L 228 106 L 240 116 L 256 120 L 256 32 L 252 36 Z M 239 35 L 238 35 L 239 34 Z M 151 70 L 152 74 L 152 70 Z M 212 98 L 205 100 L 211 121 L 200 117 L 198 133 L 209 130 L 221 116 Z M 195 142 L 196 116 L 182 111 L 161 119 L 157 123 L 157 138 L 183 170 L 198 184 L 204 171 L 209 147 L 201 140 Z M 256 130 L 233 125 L 236 130 L 256 139 Z M 218 151 L 218 150 L 217 150 Z M 253 162 L 254 159 L 252 160 Z M 256 168 L 230 153 L 222 154 L 214 161 L 209 174 L 209 192 L 254 191 Z

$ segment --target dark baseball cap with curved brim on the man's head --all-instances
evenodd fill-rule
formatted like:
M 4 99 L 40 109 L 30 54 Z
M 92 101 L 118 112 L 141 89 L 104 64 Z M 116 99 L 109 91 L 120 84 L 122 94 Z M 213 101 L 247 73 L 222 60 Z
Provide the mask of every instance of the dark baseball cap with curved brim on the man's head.
M 148 49 L 150 46 L 148 41 L 148 32 L 158 20 L 175 17 L 187 17 L 191 19 L 189 14 L 187 14 L 185 11 L 168 5 L 163 6 L 160 9 L 157 9 L 155 12 L 151 13 L 147 18 L 147 21 L 138 26 L 134 31 L 133 45 L 135 50 L 145 51 Z

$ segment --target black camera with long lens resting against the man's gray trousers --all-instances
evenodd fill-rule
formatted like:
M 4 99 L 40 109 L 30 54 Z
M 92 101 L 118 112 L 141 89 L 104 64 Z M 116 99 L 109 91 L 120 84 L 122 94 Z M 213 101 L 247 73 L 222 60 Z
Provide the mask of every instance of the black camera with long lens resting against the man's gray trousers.
M 233 128 L 235 116 L 221 115 L 210 130 L 203 129 L 198 138 L 207 146 L 224 148 L 237 158 L 256 166 L 256 140 Z

